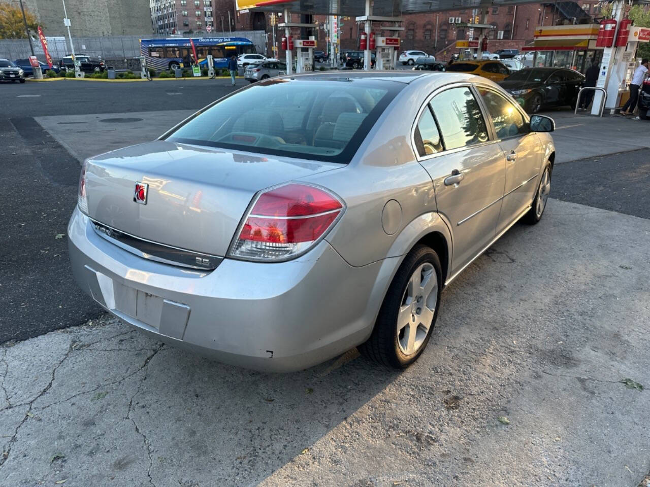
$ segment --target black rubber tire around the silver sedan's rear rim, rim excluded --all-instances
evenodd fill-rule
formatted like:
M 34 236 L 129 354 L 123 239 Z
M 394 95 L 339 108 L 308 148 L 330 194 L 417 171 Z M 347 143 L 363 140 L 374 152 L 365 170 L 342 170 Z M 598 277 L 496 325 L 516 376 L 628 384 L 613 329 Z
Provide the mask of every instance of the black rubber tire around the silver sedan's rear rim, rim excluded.
M 429 263 L 435 269 L 437 279 L 437 297 L 435 301 L 435 310 L 431 325 L 426 334 L 426 338 L 420 347 L 411 355 L 404 355 L 398 344 L 399 336 L 397 332 L 397 314 L 402 306 L 402 298 L 406 292 L 411 275 L 416 269 L 424 263 Z M 419 358 L 422 351 L 426 348 L 431 332 L 435 326 L 435 319 L 438 316 L 440 308 L 440 292 L 442 290 L 442 271 L 440 260 L 431 247 L 426 245 L 416 245 L 408 253 L 404 261 L 397 269 L 393 282 L 391 282 L 388 292 L 386 293 L 382 307 L 380 308 L 374 329 L 367 342 L 359 345 L 359 352 L 370 360 L 395 369 L 405 369 Z

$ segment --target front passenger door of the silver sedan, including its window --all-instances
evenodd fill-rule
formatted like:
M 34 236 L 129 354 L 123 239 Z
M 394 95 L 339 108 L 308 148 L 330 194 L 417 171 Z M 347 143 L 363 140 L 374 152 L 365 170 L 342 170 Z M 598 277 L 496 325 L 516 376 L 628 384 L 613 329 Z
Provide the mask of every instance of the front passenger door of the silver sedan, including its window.
M 532 202 L 541 165 L 540 141 L 512 101 L 487 86 L 477 90 L 506 161 L 506 185 L 496 228 L 499 234 Z

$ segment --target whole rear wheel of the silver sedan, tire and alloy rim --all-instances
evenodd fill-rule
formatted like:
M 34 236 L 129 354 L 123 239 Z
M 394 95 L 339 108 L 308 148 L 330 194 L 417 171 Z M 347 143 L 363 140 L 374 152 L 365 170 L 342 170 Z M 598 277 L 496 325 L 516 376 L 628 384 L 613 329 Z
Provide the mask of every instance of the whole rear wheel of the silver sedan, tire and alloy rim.
M 404 369 L 421 355 L 435 325 L 442 290 L 440 260 L 416 245 L 391 282 L 377 321 L 359 351 L 382 365 Z

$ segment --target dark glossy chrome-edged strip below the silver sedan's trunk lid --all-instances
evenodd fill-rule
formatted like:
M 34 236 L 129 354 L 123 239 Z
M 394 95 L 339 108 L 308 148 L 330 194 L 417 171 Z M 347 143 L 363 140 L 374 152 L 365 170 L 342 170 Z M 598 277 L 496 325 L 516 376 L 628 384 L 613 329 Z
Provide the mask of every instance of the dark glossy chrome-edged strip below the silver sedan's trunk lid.
M 192 269 L 212 270 L 224 260 L 223 257 L 211 254 L 204 254 L 187 249 L 165 245 L 164 243 L 152 242 L 118 229 L 114 229 L 105 223 L 88 218 L 92 223 L 92 229 L 107 242 L 117 245 L 121 249 L 148 260 L 155 260 L 162 264 L 181 266 Z

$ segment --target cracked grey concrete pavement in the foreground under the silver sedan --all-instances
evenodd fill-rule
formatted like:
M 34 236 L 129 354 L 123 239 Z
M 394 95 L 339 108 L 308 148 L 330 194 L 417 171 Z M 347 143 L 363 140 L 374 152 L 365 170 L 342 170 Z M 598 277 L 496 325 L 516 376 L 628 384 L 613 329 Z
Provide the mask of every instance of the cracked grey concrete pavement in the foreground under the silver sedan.
M 647 219 L 549 200 L 402 373 L 350 352 L 265 375 L 110 318 L 5 346 L 0 484 L 637 486 L 648 392 L 620 381 L 649 386 L 649 245 Z

